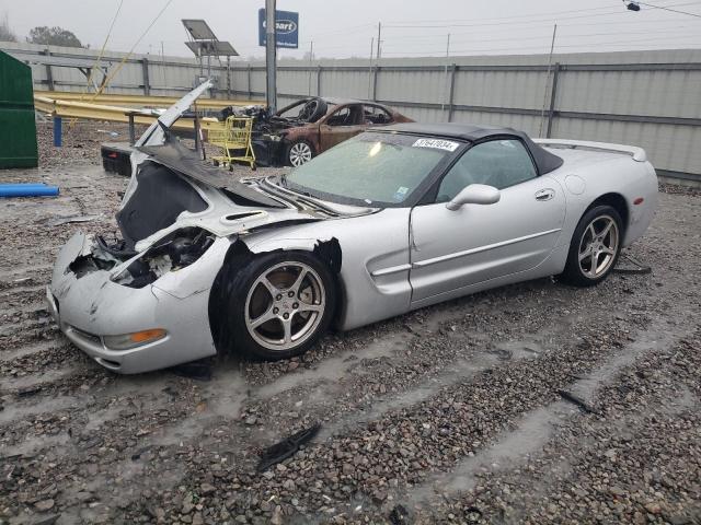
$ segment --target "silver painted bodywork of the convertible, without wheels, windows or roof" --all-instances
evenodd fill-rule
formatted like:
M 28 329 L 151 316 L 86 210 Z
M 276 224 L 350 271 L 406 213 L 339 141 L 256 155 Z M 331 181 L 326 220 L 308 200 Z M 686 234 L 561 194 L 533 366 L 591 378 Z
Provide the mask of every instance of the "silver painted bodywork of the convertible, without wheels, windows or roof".
M 194 100 L 191 95 L 162 118 L 174 121 L 174 115 Z M 163 140 L 160 129 L 149 129 L 145 143 Z M 561 167 L 502 189 L 496 203 L 464 205 L 456 211 L 445 203 L 375 209 L 317 200 L 327 209 L 323 212 L 286 201 L 290 191 L 268 182 L 251 187 L 279 198 L 284 208 L 239 206 L 221 189 L 177 175 L 196 189 L 207 209 L 182 212 L 173 224 L 138 241 L 138 255 L 131 259 L 80 278 L 70 270 L 71 262 L 95 248 L 91 236 L 76 234 L 56 260 L 47 291 L 49 307 L 67 337 L 99 363 L 120 373 L 145 372 L 216 353 L 209 296 L 233 243 L 264 254 L 313 252 L 320 243 L 337 242 L 342 264 L 336 327 L 348 330 L 468 293 L 562 272 L 579 219 L 607 194 L 621 196 L 627 203 L 623 244 L 644 233 L 657 199 L 657 178 L 644 151 L 582 141 L 543 142 L 564 160 Z M 147 160 L 154 162 L 135 153 L 134 173 L 137 163 Z M 123 206 L 136 184 L 133 175 Z M 251 214 L 227 219 L 238 213 Z M 159 240 L 193 226 L 216 237 L 194 264 L 140 289 L 115 282 Z M 168 336 L 127 351 L 110 350 L 102 340 L 151 328 L 165 329 Z

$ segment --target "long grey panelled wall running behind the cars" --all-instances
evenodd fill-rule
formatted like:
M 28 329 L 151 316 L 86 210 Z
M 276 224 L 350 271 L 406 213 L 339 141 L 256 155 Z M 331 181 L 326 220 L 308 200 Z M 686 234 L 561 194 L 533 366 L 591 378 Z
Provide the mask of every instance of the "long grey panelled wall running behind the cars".
M 0 49 L 32 65 L 36 89 L 65 91 L 84 89 L 77 66 L 97 56 L 30 44 Z M 103 63 L 111 71 L 123 57 L 106 51 Z M 222 96 L 265 96 L 262 62 L 215 61 L 211 73 Z M 176 95 L 198 75 L 194 58 L 135 55 L 106 92 Z M 550 65 L 547 55 L 280 61 L 278 106 L 308 95 L 376 100 L 422 121 L 641 145 L 660 175 L 701 184 L 700 49 L 554 55 Z

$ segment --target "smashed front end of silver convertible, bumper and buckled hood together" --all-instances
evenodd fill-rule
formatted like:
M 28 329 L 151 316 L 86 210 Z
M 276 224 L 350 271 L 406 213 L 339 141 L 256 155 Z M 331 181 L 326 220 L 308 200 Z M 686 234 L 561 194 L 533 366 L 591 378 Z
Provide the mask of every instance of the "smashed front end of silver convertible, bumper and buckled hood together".
M 197 155 L 169 137 L 207 86 L 188 93 L 137 142 L 116 214 L 119 231 L 76 233 L 54 265 L 47 302 L 59 328 L 118 373 L 216 354 L 207 330 L 212 276 L 238 232 L 275 220 L 262 210 L 285 208 L 244 185 L 229 196 L 230 178 L 200 168 Z

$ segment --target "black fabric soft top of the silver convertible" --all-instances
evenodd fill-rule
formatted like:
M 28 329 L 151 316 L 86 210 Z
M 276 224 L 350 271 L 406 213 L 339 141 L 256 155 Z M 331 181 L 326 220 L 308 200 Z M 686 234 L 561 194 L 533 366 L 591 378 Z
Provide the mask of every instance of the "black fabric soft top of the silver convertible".
M 528 137 L 525 132 L 512 128 L 496 128 L 492 126 L 478 126 L 473 124 L 445 122 L 445 124 L 420 124 L 406 122 L 394 124 L 382 128 L 372 128 L 372 131 L 388 131 L 412 135 L 424 135 L 429 137 L 440 137 L 445 139 L 459 139 L 468 142 L 482 141 L 489 138 L 515 137 L 520 139 L 536 162 L 539 175 L 558 170 L 564 161 L 544 150 Z

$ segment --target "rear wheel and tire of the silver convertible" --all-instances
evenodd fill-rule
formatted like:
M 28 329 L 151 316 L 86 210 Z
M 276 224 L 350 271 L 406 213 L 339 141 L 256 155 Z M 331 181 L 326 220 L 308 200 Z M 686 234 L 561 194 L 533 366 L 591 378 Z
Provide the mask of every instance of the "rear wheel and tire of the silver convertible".
M 621 253 L 623 221 L 610 206 L 587 211 L 572 236 L 562 280 L 576 287 L 598 284 L 611 272 Z

